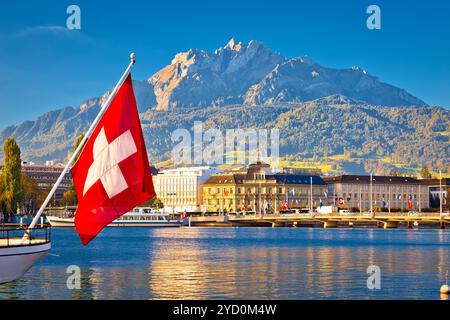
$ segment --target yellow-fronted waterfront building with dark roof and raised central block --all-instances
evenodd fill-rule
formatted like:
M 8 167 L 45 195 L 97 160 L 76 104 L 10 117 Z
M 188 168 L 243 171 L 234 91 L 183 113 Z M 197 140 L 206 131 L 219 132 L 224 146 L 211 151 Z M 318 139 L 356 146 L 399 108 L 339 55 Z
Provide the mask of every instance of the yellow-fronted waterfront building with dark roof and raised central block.
M 207 212 L 256 213 L 279 212 L 288 201 L 291 208 L 316 208 L 326 204 L 327 186 L 319 176 L 272 173 L 264 163 L 251 164 L 245 172 L 212 175 L 203 187 L 203 201 Z

